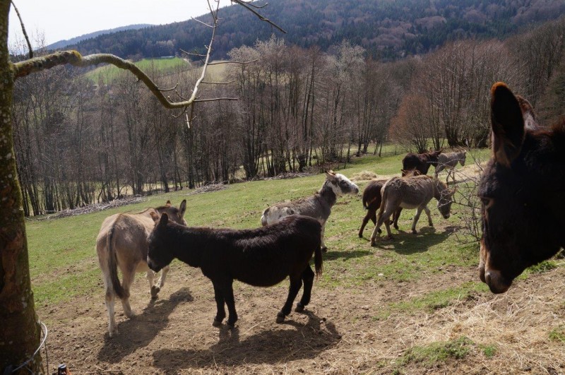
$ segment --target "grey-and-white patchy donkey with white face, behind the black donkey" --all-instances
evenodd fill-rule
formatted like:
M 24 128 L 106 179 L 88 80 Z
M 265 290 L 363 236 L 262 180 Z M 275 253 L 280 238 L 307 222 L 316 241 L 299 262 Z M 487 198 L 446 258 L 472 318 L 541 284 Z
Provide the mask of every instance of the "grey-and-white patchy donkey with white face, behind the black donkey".
M 323 242 L 323 234 L 326 231 L 326 221 L 331 213 L 337 197 L 342 194 L 355 195 L 359 193 L 359 187 L 343 174 L 332 170 L 326 172 L 326 181 L 321 189 L 307 198 L 301 198 L 290 203 L 277 203 L 263 211 L 261 225 L 269 225 L 277 222 L 287 215 L 305 215 L 318 219 L 322 225 L 322 251 L 328 251 Z

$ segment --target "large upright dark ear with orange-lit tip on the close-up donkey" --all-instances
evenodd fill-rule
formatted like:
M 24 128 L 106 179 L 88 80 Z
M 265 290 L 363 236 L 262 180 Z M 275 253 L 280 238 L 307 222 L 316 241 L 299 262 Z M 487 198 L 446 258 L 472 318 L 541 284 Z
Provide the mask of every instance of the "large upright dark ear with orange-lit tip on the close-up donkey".
M 504 83 L 491 88 L 492 153 L 494 160 L 510 167 L 524 141 L 524 118 L 520 104 Z

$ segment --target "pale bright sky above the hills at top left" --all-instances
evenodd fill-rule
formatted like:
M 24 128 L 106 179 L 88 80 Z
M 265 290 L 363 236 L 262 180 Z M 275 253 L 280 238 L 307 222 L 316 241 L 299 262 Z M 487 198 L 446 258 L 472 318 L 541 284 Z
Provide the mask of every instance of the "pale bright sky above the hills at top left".
M 13 0 L 32 44 L 45 45 L 99 30 L 137 23 L 163 25 L 208 13 L 207 0 Z M 215 4 L 215 0 L 210 0 Z M 220 0 L 220 6 L 230 5 Z M 221 17 L 221 13 L 220 13 Z M 22 40 L 20 21 L 10 10 L 8 43 Z

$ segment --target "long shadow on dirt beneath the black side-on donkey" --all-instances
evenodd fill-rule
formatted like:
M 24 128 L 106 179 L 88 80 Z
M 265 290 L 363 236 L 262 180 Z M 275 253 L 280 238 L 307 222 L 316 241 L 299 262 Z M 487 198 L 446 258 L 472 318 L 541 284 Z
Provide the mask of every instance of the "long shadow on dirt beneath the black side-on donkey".
M 306 311 L 306 324 L 285 321 L 266 331 L 239 337 L 239 328 L 222 326 L 218 343 L 203 350 L 162 349 L 153 352 L 154 366 L 176 374 L 182 369 L 215 368 L 239 364 L 275 364 L 314 358 L 339 343 L 341 335 L 333 323 Z M 285 327 L 286 326 L 286 327 Z M 295 329 L 288 329 L 292 326 Z

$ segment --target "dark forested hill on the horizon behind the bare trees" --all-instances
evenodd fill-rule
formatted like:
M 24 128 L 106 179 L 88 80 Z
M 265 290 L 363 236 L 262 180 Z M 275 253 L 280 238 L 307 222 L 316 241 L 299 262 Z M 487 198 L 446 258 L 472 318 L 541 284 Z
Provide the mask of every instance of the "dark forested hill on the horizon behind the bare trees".
M 200 0 L 198 0 L 200 1 Z M 264 2 L 258 2 L 264 4 Z M 214 42 L 215 59 L 234 47 L 275 35 L 300 47 L 327 50 L 343 39 L 365 47 L 373 56 L 397 58 L 425 53 L 448 40 L 506 37 L 558 18 L 565 1 L 557 0 L 272 0 L 260 12 L 287 30 L 283 35 L 242 6 L 220 10 Z M 199 19 L 206 22 L 210 16 Z M 107 52 L 122 57 L 157 57 L 202 52 L 210 28 L 188 20 L 139 30 L 113 32 L 73 45 L 81 53 Z

